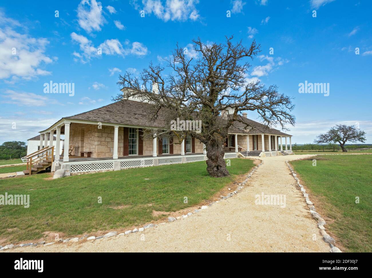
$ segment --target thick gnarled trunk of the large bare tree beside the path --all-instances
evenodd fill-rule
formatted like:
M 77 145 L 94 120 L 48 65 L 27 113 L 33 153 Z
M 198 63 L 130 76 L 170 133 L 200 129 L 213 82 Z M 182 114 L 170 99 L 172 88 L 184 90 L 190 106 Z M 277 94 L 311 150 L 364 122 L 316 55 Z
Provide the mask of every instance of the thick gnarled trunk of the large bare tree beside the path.
M 207 150 L 207 171 L 209 175 L 215 178 L 221 178 L 229 175 L 226 169 L 226 162 L 224 160 L 225 150 L 221 142 L 212 141 L 206 144 Z

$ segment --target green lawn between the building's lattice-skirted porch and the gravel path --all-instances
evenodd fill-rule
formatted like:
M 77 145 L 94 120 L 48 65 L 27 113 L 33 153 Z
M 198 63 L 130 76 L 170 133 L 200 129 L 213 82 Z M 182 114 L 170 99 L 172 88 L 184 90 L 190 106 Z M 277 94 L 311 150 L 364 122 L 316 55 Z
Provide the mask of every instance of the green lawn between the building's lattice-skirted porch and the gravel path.
M 177 211 L 210 199 L 253 166 L 249 159 L 231 159 L 231 176 L 225 178 L 211 178 L 201 161 L 55 180 L 45 179 L 47 173 L 3 179 L 0 194 L 29 194 L 30 207 L 0 206 L 1 238 L 17 243 L 40 239 L 47 231 L 72 237 L 141 226 L 165 216 L 153 211 Z

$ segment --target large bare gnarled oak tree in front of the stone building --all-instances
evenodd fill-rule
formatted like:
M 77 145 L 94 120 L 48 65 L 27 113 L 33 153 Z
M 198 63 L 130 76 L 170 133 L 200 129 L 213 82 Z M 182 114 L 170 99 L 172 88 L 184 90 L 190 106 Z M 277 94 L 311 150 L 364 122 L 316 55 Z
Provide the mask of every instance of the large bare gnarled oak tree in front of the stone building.
M 187 135 L 199 139 L 206 146 L 207 171 L 213 177 L 229 174 L 224 143 L 234 122 L 242 122 L 246 130 L 250 128 L 238 116 L 242 111 L 256 111 L 267 126 L 286 129 L 285 125 L 295 123 L 290 114 L 294 109 L 291 98 L 279 93 L 275 85 L 266 87 L 259 81 L 248 81 L 248 61 L 260 52 L 260 45 L 253 41 L 245 47 L 241 41 L 234 44 L 232 40 L 233 36 L 226 37 L 224 44 L 205 44 L 198 38 L 193 40 L 193 49 L 177 44 L 166 59 L 166 68 L 150 63 L 139 76 L 128 72 L 120 75 L 117 84 L 123 93 L 112 98 L 135 97 L 150 103 L 152 120 L 159 114 L 164 119 L 165 114 L 164 127 L 156 131 L 157 136 L 172 134 L 179 139 L 175 144 L 182 143 Z M 228 110 L 230 115 L 222 116 Z M 201 120 L 201 132 L 171 130 L 170 121 L 177 118 Z M 155 136 L 151 131 L 145 134 Z

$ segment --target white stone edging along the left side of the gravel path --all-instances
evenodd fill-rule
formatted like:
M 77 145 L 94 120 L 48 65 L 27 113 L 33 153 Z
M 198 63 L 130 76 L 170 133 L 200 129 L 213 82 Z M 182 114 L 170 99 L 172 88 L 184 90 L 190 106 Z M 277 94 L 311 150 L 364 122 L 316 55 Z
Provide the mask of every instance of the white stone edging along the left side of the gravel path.
M 255 159 L 256 160 L 260 160 L 260 159 L 257 159 L 257 158 L 255 158 Z M 248 179 L 250 179 L 251 175 L 254 172 L 256 172 L 256 170 L 257 170 L 257 168 L 259 166 L 261 166 L 263 164 L 262 160 L 260 160 L 260 161 L 261 161 L 261 163 L 258 164 L 258 165 L 256 165 L 256 166 L 254 166 L 253 169 L 251 170 L 251 172 L 248 173 L 248 175 L 246 175 L 246 179 L 243 180 L 243 182 L 238 183 L 239 186 L 237 187 L 237 189 L 235 191 L 227 194 L 226 196 L 222 196 L 221 195 L 219 201 L 211 202 L 208 206 L 203 205 L 200 210 L 194 210 L 194 213 L 199 213 L 199 212 L 201 212 L 201 210 L 206 210 L 208 207 L 211 207 L 213 204 L 218 203 L 220 201 L 223 201 L 225 199 L 228 199 L 228 198 L 234 196 L 235 194 L 238 194 L 238 192 L 241 189 L 244 188 L 244 185 L 247 183 Z M 187 213 L 185 215 L 178 216 L 178 217 L 168 217 L 168 222 L 173 222 L 173 221 L 176 221 L 176 220 L 185 219 L 185 218 L 191 216 L 192 214 L 193 213 L 190 212 L 190 213 Z M 160 223 L 159 225 L 162 225 L 162 224 L 167 224 L 167 223 L 166 222 L 163 222 L 163 223 Z M 36 247 L 36 246 L 49 246 L 49 245 L 52 245 L 52 244 L 54 244 L 56 242 L 67 243 L 67 242 L 79 242 L 79 241 L 81 241 L 83 239 L 86 239 L 86 240 L 89 240 L 89 241 L 94 241 L 94 240 L 99 240 L 99 239 L 107 239 L 107 238 L 113 237 L 113 236 L 123 236 L 123 235 L 129 235 L 131 233 L 137 233 L 137 232 L 140 232 L 141 233 L 141 232 L 143 232 L 146 229 L 157 227 L 157 226 L 158 226 L 157 224 L 150 223 L 150 224 L 146 224 L 145 226 L 143 226 L 143 227 L 141 227 L 139 229 L 135 228 L 133 230 L 128 230 L 128 231 L 125 231 L 124 233 L 120 233 L 120 234 L 118 234 L 117 231 L 111 231 L 111 232 L 105 234 L 104 236 L 98 236 L 98 237 L 95 237 L 95 236 L 88 237 L 88 235 L 86 234 L 85 236 L 82 236 L 80 238 L 79 237 L 74 237 L 74 238 L 69 238 L 69 239 L 65 239 L 65 240 L 59 239 L 57 241 L 49 242 L 49 243 L 45 243 L 45 241 L 41 241 L 41 242 L 38 242 L 38 243 L 21 243 L 19 245 L 8 244 L 8 245 L 6 245 L 4 247 L 0 246 L 0 251 L 1 250 L 6 250 L 6 249 L 14 249 L 14 248 L 17 248 L 17 247 L 26 247 L 26 246 L 32 246 L 32 247 Z

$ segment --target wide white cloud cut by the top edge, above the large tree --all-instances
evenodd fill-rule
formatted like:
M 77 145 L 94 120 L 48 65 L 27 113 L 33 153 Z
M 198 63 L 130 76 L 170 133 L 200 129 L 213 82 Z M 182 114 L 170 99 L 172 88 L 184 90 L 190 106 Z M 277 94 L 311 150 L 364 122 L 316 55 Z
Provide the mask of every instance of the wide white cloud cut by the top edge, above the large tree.
M 131 2 L 135 9 L 144 10 L 145 14 L 153 13 L 165 22 L 197 20 L 200 16 L 195 4 L 198 3 L 199 0 L 142 0 L 143 6 L 140 7 L 137 0 Z

